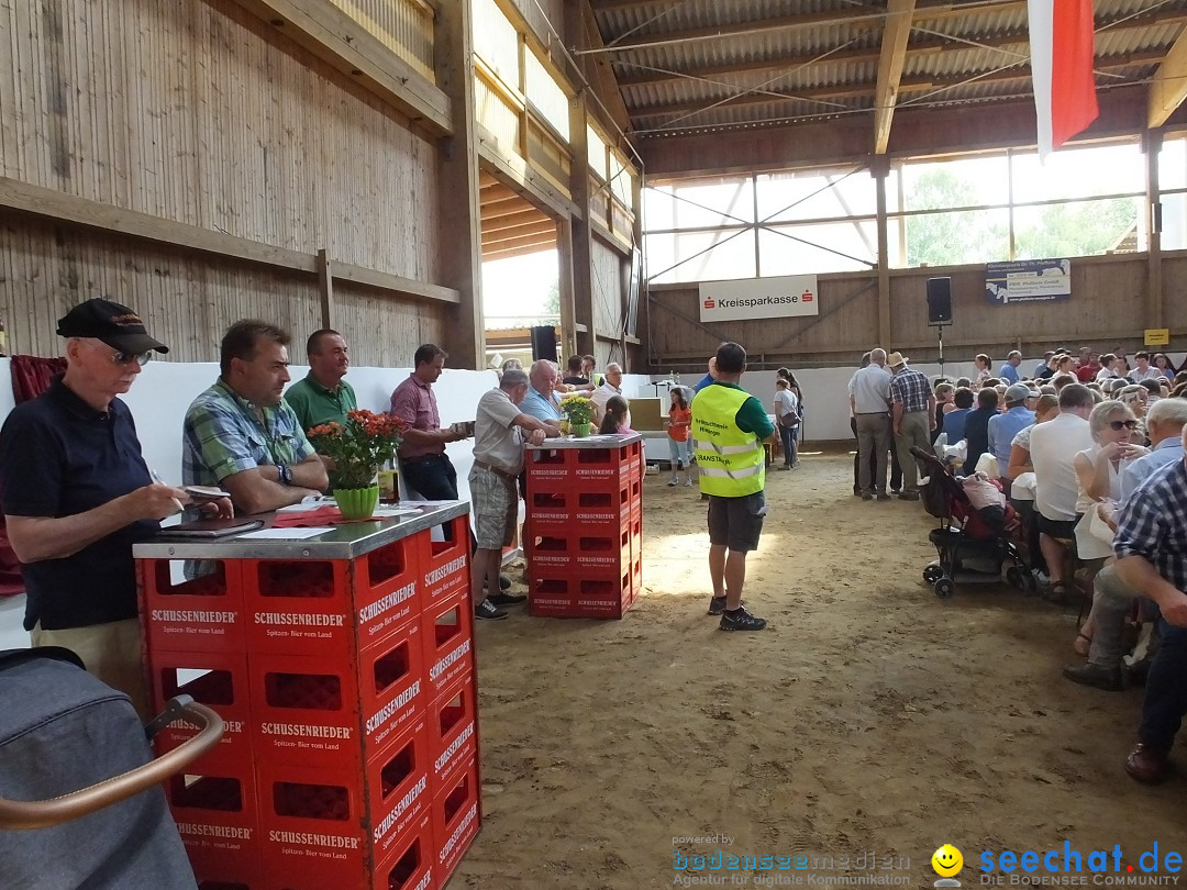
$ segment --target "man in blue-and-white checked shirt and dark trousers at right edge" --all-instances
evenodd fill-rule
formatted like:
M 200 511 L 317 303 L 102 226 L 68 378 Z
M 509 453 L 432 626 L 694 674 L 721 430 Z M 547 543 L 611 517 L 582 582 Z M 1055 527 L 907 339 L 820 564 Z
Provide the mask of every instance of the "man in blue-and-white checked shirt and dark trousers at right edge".
M 1182 433 L 1187 447 L 1187 428 Z M 1187 458 L 1155 471 L 1117 517 L 1117 573 L 1157 603 L 1162 647 L 1145 680 L 1138 743 L 1125 771 L 1138 782 L 1161 782 L 1168 754 L 1187 714 Z

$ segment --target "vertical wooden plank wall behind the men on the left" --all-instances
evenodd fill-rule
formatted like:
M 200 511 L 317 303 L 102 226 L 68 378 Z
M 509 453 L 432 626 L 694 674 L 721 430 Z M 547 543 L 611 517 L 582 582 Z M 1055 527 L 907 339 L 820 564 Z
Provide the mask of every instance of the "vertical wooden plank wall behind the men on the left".
M 438 280 L 436 145 L 239 5 L 0 0 L 0 45 L 4 176 Z M 317 324 L 309 278 L 15 214 L 0 223 L 0 312 L 17 351 L 57 354 L 55 319 L 97 293 L 145 313 L 184 361 L 214 361 L 239 317 L 298 338 Z M 339 305 L 360 363 L 407 351 L 385 337 L 440 338 L 449 312 L 345 287 Z

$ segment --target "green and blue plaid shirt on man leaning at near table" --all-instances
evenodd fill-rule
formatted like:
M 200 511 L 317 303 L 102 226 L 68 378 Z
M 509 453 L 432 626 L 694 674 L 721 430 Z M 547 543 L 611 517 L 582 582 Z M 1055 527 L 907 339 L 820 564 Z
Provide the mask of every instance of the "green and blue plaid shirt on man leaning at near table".
M 256 406 L 240 399 L 220 377 L 185 412 L 182 478 L 186 485 L 217 485 L 256 466 L 291 466 L 313 453 L 287 403 Z

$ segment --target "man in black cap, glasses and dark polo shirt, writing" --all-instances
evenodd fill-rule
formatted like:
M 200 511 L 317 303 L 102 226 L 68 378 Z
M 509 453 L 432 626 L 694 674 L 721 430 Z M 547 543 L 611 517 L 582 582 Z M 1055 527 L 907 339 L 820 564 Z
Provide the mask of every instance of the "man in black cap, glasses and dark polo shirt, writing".
M 189 503 L 153 482 L 127 393 L 153 350 L 169 348 L 127 306 L 91 299 L 58 322 L 66 370 L 17 406 L 0 431 L 8 538 L 24 564 L 25 629 L 33 646 L 63 646 L 148 713 L 140 662 L 132 545 Z M 230 515 L 223 498 L 203 508 Z

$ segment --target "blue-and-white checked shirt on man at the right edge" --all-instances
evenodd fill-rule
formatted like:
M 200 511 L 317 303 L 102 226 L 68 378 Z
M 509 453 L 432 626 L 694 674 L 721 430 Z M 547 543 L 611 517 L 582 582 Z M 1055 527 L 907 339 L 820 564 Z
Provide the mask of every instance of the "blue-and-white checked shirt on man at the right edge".
M 1175 460 L 1154 473 L 1125 501 L 1113 535 L 1117 559 L 1142 557 L 1187 592 L 1187 464 Z

